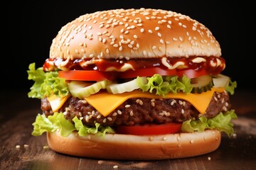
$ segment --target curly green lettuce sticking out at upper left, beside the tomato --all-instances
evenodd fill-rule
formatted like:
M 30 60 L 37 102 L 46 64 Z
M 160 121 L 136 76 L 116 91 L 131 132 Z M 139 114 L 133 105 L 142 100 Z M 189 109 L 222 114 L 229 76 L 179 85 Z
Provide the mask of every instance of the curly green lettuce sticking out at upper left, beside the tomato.
M 35 81 L 28 92 L 30 98 L 43 98 L 45 96 L 66 96 L 68 95 L 68 84 L 65 79 L 58 77 L 58 72 L 44 72 L 43 67 L 36 69 L 36 64 L 28 66 L 28 79 Z

